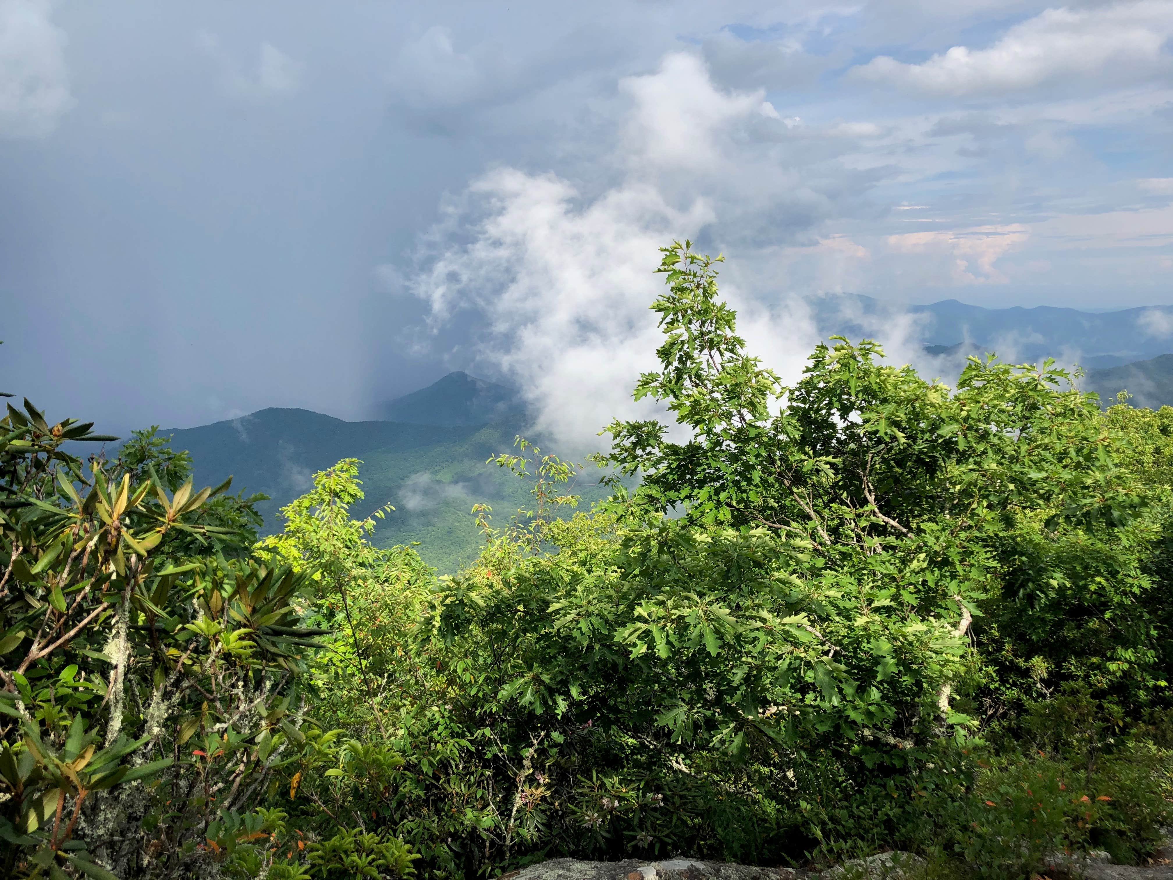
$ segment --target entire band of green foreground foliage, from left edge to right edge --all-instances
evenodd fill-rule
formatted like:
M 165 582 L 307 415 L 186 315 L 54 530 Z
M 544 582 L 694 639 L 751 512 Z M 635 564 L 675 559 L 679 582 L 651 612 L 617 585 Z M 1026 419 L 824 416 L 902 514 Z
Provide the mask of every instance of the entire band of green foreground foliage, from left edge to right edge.
M 628 479 L 589 510 L 579 465 L 493 455 L 530 499 L 473 507 L 452 576 L 373 543 L 357 459 L 253 543 L 255 496 L 195 493 L 154 431 L 87 471 L 89 426 L 9 409 L 9 873 L 1141 862 L 1173 821 L 1173 409 L 992 357 L 947 388 L 842 338 L 784 387 L 718 264 L 664 249 L 636 395 L 676 426 L 613 422 Z

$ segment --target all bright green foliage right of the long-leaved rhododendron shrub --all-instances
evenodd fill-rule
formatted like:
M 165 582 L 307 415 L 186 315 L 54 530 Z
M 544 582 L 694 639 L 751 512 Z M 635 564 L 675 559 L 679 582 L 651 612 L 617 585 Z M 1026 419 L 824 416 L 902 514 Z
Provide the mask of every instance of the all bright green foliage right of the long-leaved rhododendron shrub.
M 377 625 L 321 662 L 318 712 L 374 742 L 325 735 L 331 776 L 307 764 L 305 797 L 369 815 L 433 875 L 901 842 L 1025 876 L 1127 835 L 1138 857 L 1164 815 L 1143 780 L 1167 760 L 1117 740 L 1164 700 L 1148 645 L 1168 505 L 1123 454 L 1123 418 L 1052 365 L 972 360 L 950 391 L 842 339 L 782 388 L 745 353 L 714 265 L 665 253 L 663 370 L 637 394 L 690 433 L 611 426 L 606 462 L 633 493 L 612 481 L 563 516 L 578 467 L 520 441 L 494 460 L 535 481 L 534 503 L 500 529 L 476 508 L 487 547 L 459 575 L 332 544 L 362 584 L 353 620 Z M 358 501 L 327 483 L 297 509 Z M 290 516 L 287 540 L 305 530 Z M 1116 731 L 1092 776 L 1013 745 L 1065 684 Z

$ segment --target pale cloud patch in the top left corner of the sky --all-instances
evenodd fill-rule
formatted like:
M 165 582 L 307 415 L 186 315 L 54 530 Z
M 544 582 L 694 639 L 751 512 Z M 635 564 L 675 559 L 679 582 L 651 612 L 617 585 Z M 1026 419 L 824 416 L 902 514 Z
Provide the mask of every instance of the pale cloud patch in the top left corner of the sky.
M 0 136 L 43 137 L 74 106 L 47 0 L 0 0 Z

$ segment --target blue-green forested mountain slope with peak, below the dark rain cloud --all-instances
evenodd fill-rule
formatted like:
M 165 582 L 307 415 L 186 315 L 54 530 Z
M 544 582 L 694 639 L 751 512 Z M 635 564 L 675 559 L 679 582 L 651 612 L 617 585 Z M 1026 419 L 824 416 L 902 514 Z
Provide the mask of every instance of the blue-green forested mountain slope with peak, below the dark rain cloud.
M 513 404 L 513 393 L 467 373 L 387 405 L 404 421 L 343 421 L 308 409 L 269 408 L 195 428 L 167 429 L 175 449 L 191 454 L 202 480 L 232 476 L 232 489 L 264 493 L 257 505 L 265 532 L 280 532 L 278 510 L 313 485 L 312 475 L 345 458 L 362 461 L 364 516 L 384 505 L 395 510 L 378 521 L 380 547 L 420 542 L 420 555 L 441 571 L 476 556 L 480 535 L 472 507 L 484 502 L 499 520 L 526 503 L 526 487 L 487 460 L 513 448 L 517 435 L 534 439 L 521 413 L 504 411 L 489 424 L 468 424 Z M 428 418 L 433 424 L 419 424 Z M 579 487 L 601 496 L 594 478 Z

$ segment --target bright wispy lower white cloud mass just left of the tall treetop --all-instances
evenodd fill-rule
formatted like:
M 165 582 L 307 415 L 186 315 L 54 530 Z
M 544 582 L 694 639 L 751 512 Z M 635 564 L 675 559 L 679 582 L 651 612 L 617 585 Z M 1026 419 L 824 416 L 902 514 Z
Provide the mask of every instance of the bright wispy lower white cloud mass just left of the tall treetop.
M 656 365 L 656 249 L 708 219 L 704 204 L 676 210 L 649 185 L 583 202 L 554 175 L 501 169 L 449 207 L 441 250 L 412 287 L 436 327 L 475 311 L 479 364 L 521 388 L 540 429 L 581 440 L 653 412 L 628 398 Z M 460 230 L 472 241 L 453 243 Z

